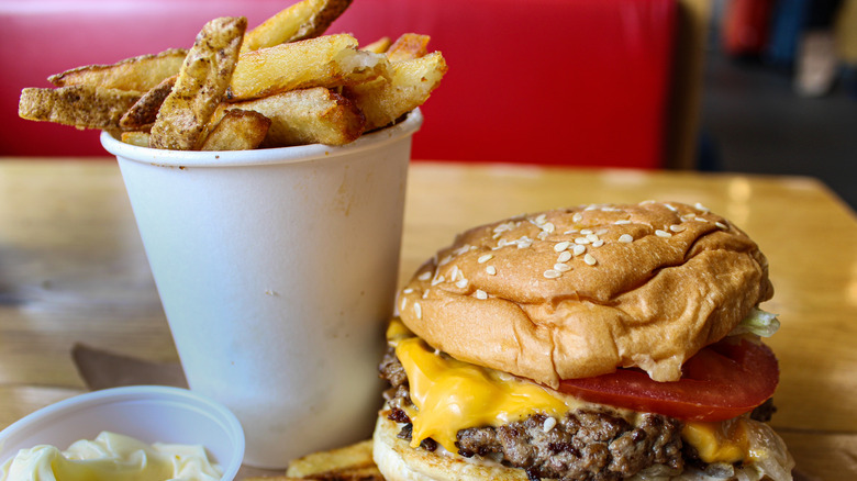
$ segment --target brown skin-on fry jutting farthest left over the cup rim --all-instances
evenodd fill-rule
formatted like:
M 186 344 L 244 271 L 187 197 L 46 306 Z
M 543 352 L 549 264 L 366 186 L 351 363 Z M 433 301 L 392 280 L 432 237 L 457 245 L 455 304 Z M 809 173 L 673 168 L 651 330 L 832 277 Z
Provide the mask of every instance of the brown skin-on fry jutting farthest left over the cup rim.
M 119 120 L 140 97 L 137 91 L 93 86 L 26 88 L 21 91 L 18 115 L 80 128 L 118 130 Z

